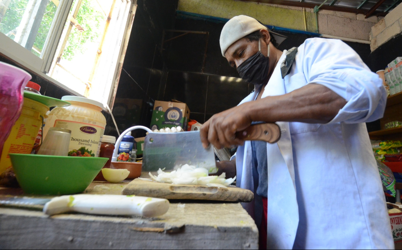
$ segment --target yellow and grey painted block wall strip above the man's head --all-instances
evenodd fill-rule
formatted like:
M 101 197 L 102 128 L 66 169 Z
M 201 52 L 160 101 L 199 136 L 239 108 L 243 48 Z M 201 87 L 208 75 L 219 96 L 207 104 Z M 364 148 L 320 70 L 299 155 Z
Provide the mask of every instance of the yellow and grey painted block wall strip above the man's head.
M 179 0 L 178 10 L 222 18 L 244 14 L 264 24 L 305 30 L 304 13 L 301 7 L 236 0 Z M 305 11 L 307 31 L 316 32 L 313 9 L 305 8 Z M 320 10 L 317 19 L 320 34 L 366 41 L 370 40 L 371 27 L 381 20 L 376 16 L 365 18 L 363 14 L 332 10 Z

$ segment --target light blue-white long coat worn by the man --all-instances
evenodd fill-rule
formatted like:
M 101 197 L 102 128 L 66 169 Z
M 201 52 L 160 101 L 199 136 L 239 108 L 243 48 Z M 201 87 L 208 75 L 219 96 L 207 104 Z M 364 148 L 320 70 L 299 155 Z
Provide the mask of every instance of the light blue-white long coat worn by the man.
M 277 122 L 267 143 L 268 249 L 393 249 L 390 219 L 365 122 L 383 116 L 386 92 L 377 74 L 341 40 L 310 38 L 281 77 L 285 50 L 262 98 L 309 83 L 328 87 L 347 104 L 327 124 Z M 254 93 L 240 104 L 253 100 Z M 239 105 L 240 105 L 239 104 Z M 236 152 L 237 186 L 255 194 L 251 143 Z M 254 171 L 255 172 L 255 171 Z M 261 198 L 243 204 L 259 225 Z

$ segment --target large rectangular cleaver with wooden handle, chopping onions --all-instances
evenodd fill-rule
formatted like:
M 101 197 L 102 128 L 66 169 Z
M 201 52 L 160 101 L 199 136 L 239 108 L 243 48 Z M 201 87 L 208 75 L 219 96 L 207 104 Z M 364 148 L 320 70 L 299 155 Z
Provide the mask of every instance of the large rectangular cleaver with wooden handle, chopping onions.
M 281 138 L 281 130 L 275 123 L 258 123 L 236 133 L 236 137 L 275 143 Z M 210 174 L 217 172 L 213 146 L 203 148 L 199 131 L 152 132 L 145 137 L 142 171 L 172 171 L 185 164 L 206 168 Z

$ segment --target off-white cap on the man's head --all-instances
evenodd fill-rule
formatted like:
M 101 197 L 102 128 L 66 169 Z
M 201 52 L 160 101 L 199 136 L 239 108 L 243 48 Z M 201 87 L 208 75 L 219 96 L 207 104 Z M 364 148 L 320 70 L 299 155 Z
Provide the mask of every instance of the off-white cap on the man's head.
M 268 30 L 267 27 L 250 16 L 240 15 L 230 19 L 222 28 L 221 37 L 219 38 L 222 56 L 225 56 L 226 50 L 234 42 L 261 29 Z

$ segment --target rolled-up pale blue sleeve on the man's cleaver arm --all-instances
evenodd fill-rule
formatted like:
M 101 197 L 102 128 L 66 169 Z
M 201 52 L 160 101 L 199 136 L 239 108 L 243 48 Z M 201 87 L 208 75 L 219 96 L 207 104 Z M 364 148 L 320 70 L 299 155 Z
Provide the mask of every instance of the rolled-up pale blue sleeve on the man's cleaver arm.
M 329 123 L 362 123 L 383 117 L 387 95 L 382 80 L 355 50 L 341 40 L 312 38 L 304 43 L 303 52 L 307 82 L 324 85 L 347 101 Z

